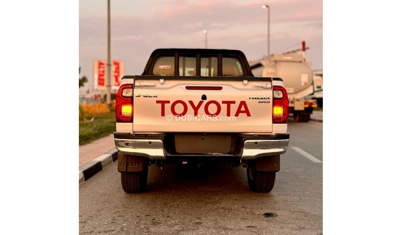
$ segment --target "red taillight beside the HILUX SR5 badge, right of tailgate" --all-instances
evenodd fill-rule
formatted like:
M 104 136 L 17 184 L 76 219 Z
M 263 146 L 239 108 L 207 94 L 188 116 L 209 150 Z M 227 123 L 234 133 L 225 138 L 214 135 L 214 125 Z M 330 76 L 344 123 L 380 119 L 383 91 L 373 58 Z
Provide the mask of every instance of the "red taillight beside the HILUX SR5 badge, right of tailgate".
M 283 86 L 273 86 L 272 122 L 287 123 L 289 116 L 289 100 Z

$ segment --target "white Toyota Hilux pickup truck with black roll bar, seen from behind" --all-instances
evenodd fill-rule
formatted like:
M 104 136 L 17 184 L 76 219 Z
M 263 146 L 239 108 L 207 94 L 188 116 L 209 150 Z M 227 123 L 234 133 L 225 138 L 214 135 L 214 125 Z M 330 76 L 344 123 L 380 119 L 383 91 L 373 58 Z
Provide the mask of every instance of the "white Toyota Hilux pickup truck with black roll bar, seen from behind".
M 254 77 L 242 51 L 156 49 L 116 98 L 117 169 L 127 193 L 146 190 L 148 166 L 206 161 L 246 168 L 270 192 L 289 145 L 281 78 Z

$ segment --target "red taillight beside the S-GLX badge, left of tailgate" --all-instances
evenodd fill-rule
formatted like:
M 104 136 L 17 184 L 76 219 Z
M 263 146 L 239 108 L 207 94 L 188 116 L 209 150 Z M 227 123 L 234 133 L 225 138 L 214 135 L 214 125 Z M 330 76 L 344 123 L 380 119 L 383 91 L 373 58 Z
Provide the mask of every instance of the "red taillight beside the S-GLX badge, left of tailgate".
M 122 85 L 116 97 L 116 123 L 133 122 L 133 84 Z

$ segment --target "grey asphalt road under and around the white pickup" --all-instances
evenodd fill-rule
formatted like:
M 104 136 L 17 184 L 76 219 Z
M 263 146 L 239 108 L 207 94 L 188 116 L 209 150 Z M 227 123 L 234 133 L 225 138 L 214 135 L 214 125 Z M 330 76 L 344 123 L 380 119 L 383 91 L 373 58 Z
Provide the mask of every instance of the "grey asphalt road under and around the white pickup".
M 150 167 L 148 192 L 121 188 L 117 161 L 79 186 L 80 234 L 322 234 L 322 123 L 289 119 L 289 149 L 269 193 L 246 170 Z

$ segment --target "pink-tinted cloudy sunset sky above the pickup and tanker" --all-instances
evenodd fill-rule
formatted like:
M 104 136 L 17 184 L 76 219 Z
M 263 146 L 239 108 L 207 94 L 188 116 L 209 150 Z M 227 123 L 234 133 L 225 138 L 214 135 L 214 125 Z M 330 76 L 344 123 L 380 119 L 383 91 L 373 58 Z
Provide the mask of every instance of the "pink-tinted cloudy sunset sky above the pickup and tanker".
M 125 75 L 144 70 L 157 48 L 239 49 L 247 59 L 267 55 L 270 6 L 271 53 L 301 48 L 322 69 L 322 0 L 111 0 L 111 60 L 123 60 Z M 107 59 L 107 0 L 79 1 L 80 76 L 92 88 L 94 59 Z

